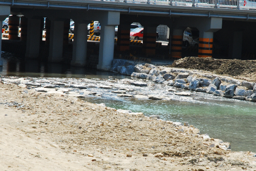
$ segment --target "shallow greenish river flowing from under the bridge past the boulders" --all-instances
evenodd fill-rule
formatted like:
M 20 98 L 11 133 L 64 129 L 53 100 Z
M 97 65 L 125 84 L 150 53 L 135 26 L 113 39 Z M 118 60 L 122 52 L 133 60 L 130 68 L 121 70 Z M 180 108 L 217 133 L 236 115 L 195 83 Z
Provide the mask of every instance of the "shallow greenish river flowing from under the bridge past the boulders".
M 91 103 L 104 103 L 116 109 L 143 112 L 150 116 L 159 115 L 161 119 L 187 121 L 200 129 L 201 134 L 219 138 L 230 142 L 233 151 L 256 152 L 256 103 L 227 99 L 212 94 L 189 91 L 191 96 L 178 96 L 174 92 L 166 91 L 171 86 L 147 82 L 147 87 L 124 84 L 120 79 L 129 78 L 113 72 L 87 70 L 61 64 L 48 64 L 38 61 L 4 60 L 0 75 L 17 77 L 55 77 L 55 78 L 86 78 L 90 84 L 97 87 L 88 88 L 101 96 L 90 95 L 85 98 Z M 109 78 L 111 77 L 111 78 Z M 119 97 L 111 92 L 113 89 L 98 88 L 100 85 L 112 85 L 113 89 L 131 88 L 130 94 L 164 95 L 167 100 L 135 99 Z M 184 91 L 183 89 L 176 89 Z

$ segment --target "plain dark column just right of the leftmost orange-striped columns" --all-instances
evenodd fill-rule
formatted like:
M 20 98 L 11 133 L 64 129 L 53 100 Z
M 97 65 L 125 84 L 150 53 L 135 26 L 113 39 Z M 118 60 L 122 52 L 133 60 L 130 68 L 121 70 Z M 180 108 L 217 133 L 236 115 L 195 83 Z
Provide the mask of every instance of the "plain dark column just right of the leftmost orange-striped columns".
M 41 19 L 28 18 L 26 58 L 39 56 Z

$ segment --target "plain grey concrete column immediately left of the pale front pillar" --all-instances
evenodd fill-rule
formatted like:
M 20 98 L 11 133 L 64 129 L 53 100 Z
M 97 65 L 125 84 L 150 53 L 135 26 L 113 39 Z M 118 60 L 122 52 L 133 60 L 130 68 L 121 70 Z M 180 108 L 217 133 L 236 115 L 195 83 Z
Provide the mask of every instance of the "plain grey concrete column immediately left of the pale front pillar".
M 86 65 L 88 23 L 75 22 L 73 55 L 72 55 L 72 61 L 71 61 L 72 66 Z

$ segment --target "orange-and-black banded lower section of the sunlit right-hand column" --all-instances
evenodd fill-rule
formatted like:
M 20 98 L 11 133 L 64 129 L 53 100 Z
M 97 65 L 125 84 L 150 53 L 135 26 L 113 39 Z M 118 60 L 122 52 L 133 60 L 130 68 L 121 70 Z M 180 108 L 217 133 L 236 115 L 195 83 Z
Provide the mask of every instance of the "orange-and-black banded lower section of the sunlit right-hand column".
M 214 42 L 214 39 L 212 38 L 199 38 L 198 57 L 201 57 L 201 58 L 212 57 L 213 42 Z

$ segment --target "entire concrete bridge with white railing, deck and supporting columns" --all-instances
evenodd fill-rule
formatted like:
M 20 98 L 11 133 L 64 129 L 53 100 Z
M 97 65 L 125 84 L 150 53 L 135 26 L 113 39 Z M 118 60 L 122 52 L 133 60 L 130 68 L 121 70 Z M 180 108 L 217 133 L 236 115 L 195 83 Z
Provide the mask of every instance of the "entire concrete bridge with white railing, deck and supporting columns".
M 101 23 L 98 69 L 109 70 L 114 56 L 115 26 L 118 26 L 117 51 L 130 49 L 130 25 L 140 22 L 144 27 L 143 53 L 156 53 L 156 29 L 170 29 L 170 56 L 181 58 L 183 31 L 199 30 L 198 57 L 211 57 L 214 36 L 228 43 L 228 56 L 241 58 L 242 49 L 255 44 L 256 2 L 254 0 L 0 0 L 0 24 L 9 17 L 9 39 L 17 40 L 19 17 L 20 41 L 26 43 L 26 58 L 37 58 L 42 37 L 42 17 L 46 19 L 46 41 L 49 62 L 63 60 L 68 43 L 70 19 L 75 21 L 71 65 L 84 66 L 87 58 L 87 26 L 92 20 Z M 217 34 L 218 32 L 218 34 Z M 1 35 L 2 39 L 2 35 Z M 0 50 L 1 42 L 0 39 Z M 256 44 L 255 44 L 256 45 Z M 243 47 L 243 48 L 242 48 Z M 166 50 L 169 51 L 169 50 Z M 256 53 L 256 52 L 255 52 Z M 1 59 L 1 56 L 0 56 Z M 0 65 L 2 65 L 0 63 Z

